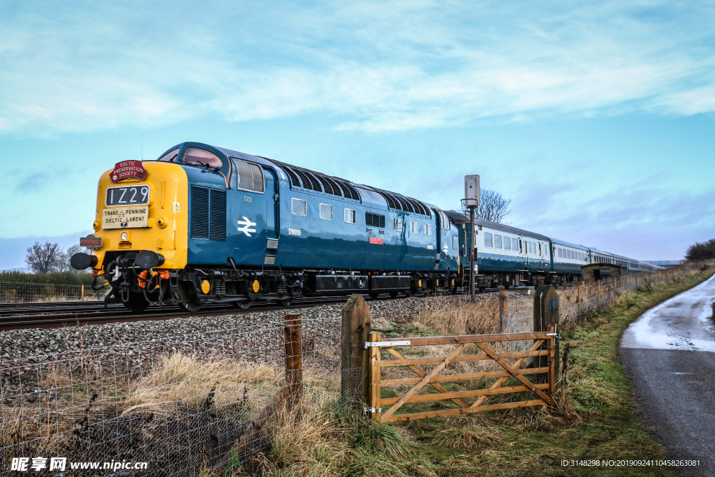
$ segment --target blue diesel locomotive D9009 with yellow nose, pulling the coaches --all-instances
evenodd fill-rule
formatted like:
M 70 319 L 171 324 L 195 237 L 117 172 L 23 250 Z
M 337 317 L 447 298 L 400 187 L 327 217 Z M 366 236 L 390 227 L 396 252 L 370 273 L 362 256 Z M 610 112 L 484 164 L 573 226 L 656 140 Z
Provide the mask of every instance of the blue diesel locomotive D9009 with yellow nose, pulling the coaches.
M 458 228 L 438 207 L 198 142 L 102 174 L 93 227 L 94 255 L 72 265 L 136 312 L 460 285 Z

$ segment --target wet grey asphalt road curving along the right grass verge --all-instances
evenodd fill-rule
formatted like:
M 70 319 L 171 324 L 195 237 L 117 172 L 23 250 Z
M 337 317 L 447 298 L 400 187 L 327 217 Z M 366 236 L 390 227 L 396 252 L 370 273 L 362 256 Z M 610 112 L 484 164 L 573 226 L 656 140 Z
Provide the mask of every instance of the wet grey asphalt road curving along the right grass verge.
M 715 276 L 648 310 L 631 323 L 618 350 L 641 421 L 676 476 L 715 475 Z

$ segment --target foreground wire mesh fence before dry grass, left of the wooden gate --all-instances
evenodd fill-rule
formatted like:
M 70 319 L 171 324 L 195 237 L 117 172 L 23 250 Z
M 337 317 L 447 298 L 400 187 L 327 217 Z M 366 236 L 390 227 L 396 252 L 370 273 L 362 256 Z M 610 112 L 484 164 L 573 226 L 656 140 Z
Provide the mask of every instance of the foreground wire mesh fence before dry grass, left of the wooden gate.
M 301 348 L 302 385 L 337 396 L 337 385 L 325 383 L 340 379 L 340 318 L 305 319 Z M 13 458 L 57 456 L 149 463 L 142 475 L 197 475 L 247 433 L 255 435 L 240 461 L 250 461 L 268 446 L 267 433 L 250 425 L 285 386 L 285 349 L 275 320 L 4 359 L 0 476 L 13 474 Z

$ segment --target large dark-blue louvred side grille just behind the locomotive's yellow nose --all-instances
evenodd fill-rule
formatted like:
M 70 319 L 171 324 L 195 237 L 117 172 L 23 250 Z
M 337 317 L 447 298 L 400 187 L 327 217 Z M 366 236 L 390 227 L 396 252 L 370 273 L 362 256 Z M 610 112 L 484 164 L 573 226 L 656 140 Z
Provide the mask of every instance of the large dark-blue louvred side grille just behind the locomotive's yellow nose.
M 226 191 L 191 187 L 191 237 L 226 240 Z

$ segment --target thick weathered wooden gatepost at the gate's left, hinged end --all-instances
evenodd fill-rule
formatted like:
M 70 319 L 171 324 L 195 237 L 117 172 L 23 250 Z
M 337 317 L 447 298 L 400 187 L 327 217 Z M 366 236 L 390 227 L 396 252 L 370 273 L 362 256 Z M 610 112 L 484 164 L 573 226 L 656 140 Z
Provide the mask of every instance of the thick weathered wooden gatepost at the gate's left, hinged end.
M 370 331 L 370 307 L 363 295 L 352 295 L 342 307 L 340 388 L 344 399 L 364 403 L 370 399 L 368 350 L 365 349 Z

